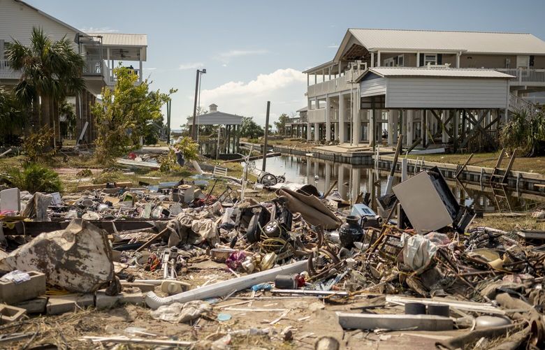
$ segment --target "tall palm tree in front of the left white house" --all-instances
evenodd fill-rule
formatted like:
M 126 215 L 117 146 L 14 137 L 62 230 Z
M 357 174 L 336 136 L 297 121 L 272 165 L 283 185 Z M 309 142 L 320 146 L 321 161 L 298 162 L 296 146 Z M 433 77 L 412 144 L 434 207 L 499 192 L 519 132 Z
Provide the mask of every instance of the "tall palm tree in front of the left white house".
M 14 70 L 22 71 L 14 91 L 20 101 L 33 108 L 33 126 L 49 125 L 60 138 L 58 105 L 68 94 L 85 87 L 82 78 L 84 61 L 66 37 L 51 41 L 41 28 L 32 28 L 30 45 L 19 41 L 8 46 L 6 55 Z M 38 108 L 39 105 L 39 108 Z

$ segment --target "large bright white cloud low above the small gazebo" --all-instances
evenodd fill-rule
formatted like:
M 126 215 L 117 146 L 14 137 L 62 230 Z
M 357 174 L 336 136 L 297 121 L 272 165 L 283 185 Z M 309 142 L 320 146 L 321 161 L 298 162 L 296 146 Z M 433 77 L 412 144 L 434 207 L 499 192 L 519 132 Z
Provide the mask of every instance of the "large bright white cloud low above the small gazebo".
M 201 105 L 219 105 L 219 110 L 254 117 L 258 124 L 265 123 L 266 103 L 271 103 L 271 123 L 282 113 L 295 112 L 306 104 L 305 74 L 293 68 L 277 69 L 260 74 L 249 82 L 226 82 L 214 89 L 201 91 Z M 193 96 L 187 96 L 193 99 Z M 300 99 L 298 99 L 300 98 Z

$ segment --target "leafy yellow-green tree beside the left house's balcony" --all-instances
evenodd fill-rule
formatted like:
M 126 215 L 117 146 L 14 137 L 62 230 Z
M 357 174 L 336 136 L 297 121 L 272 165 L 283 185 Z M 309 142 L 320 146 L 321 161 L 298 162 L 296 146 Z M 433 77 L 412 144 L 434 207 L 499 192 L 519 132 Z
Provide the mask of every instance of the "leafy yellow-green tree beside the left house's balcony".
M 150 91 L 150 83 L 144 80 L 136 85 L 138 76 L 129 68 L 114 68 L 117 77 L 115 87 L 102 89 L 103 99 L 92 106 L 98 137 L 96 154 L 103 159 L 122 156 L 140 147 L 140 136 L 145 136 L 152 122 L 163 119 L 161 106 L 176 92 L 169 94 Z

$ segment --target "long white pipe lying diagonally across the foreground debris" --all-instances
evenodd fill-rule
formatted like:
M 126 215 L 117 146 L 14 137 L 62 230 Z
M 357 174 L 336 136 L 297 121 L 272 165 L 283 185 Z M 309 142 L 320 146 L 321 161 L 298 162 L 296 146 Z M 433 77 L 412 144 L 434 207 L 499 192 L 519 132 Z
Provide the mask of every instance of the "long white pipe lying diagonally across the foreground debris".
M 228 293 L 231 293 L 233 290 L 242 291 L 243 289 L 254 286 L 254 284 L 274 281 L 276 275 L 290 275 L 303 272 L 305 268 L 307 268 L 307 261 L 298 261 L 290 265 L 284 265 L 278 268 L 257 272 L 252 275 L 237 277 L 215 284 L 209 284 L 208 286 L 203 286 L 191 291 L 185 291 L 166 298 L 161 298 L 154 292 L 148 292 L 146 294 L 145 302 L 147 306 L 151 307 L 152 309 L 157 309 L 162 305 L 169 305 L 173 302 L 183 303 L 192 300 L 203 300 L 207 298 L 225 296 Z

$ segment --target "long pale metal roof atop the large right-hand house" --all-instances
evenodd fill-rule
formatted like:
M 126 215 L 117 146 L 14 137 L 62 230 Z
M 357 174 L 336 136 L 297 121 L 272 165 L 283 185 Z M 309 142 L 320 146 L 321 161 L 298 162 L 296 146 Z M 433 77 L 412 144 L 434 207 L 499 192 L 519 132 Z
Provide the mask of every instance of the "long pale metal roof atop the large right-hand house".
M 370 50 L 545 54 L 545 42 L 532 34 L 399 29 L 349 29 L 349 32 Z

